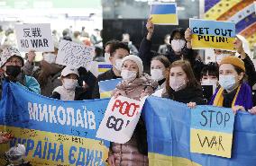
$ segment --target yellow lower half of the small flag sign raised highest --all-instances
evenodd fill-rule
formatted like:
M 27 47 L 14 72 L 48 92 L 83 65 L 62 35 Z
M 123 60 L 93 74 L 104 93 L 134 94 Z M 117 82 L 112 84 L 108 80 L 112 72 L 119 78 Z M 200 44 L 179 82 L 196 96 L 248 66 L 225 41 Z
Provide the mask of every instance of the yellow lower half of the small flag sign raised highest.
M 178 24 L 176 14 L 151 14 L 151 17 L 154 24 Z

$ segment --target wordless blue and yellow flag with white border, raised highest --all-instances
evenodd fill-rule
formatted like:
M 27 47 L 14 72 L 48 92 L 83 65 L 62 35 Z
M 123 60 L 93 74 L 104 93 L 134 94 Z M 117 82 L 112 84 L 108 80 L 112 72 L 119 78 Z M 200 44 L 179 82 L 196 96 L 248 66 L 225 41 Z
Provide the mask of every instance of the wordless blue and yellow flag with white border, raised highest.
M 151 22 L 159 25 L 178 25 L 176 3 L 151 4 Z

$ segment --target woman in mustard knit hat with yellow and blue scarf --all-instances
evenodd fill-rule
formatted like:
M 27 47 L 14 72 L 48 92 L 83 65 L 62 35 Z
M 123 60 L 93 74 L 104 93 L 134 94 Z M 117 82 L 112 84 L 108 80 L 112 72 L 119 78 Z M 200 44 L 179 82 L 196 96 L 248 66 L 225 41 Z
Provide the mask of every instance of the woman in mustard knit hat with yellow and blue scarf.
M 224 57 L 219 66 L 220 88 L 209 104 L 238 110 L 252 108 L 251 87 L 245 83 L 245 66 L 239 57 Z

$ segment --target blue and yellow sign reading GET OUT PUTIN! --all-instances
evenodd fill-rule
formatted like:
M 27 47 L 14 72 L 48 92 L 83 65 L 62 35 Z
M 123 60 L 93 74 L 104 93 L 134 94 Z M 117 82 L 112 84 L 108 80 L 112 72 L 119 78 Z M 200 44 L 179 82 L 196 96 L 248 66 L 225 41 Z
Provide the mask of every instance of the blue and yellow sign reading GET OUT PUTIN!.
M 192 48 L 194 49 L 216 48 L 234 50 L 234 22 L 189 19 L 189 28 L 192 31 Z

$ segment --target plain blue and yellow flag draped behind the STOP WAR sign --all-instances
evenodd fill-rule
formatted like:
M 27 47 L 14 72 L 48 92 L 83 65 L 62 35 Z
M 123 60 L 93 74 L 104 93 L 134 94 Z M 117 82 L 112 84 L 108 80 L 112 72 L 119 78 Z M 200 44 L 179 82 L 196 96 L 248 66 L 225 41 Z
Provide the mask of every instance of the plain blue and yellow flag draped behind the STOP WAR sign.
M 143 107 L 151 166 L 256 166 L 256 116 L 235 116 L 231 158 L 190 153 L 190 111 L 186 104 L 149 97 Z

